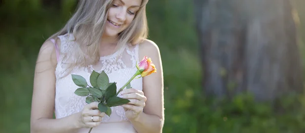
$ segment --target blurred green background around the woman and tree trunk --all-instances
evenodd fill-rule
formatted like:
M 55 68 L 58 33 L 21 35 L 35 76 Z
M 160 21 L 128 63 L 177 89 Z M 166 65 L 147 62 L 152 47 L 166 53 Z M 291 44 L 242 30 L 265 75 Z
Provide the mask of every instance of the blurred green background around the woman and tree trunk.
M 300 46 L 305 39 L 302 1 L 295 0 Z M 75 4 L 1 1 L 0 132 L 29 132 L 37 54 L 45 39 L 64 26 Z M 193 1 L 149 1 L 147 17 L 149 39 L 159 46 L 164 67 L 164 132 L 305 132 L 305 96 L 281 100 L 286 111 L 255 103 L 251 95 L 223 101 L 203 97 Z

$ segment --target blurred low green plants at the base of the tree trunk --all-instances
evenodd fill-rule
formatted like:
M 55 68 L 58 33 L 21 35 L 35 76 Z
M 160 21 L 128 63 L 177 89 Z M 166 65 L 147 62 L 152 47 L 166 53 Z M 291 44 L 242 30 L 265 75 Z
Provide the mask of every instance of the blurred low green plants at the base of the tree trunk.
M 304 96 L 283 98 L 277 107 L 271 103 L 256 103 L 250 94 L 240 94 L 232 100 L 185 97 L 175 101 L 176 104 L 167 106 L 170 111 L 166 112 L 170 113 L 166 114 L 164 132 L 305 131 Z

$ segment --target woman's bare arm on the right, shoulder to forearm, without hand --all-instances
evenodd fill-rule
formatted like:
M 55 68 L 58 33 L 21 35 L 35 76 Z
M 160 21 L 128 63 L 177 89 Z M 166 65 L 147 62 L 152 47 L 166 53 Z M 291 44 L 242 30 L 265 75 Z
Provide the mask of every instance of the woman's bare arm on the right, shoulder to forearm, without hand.
M 138 132 L 162 132 L 164 124 L 163 69 L 158 46 L 150 40 L 139 45 L 140 61 L 144 56 L 151 58 L 157 73 L 143 77 L 143 93 L 146 97 L 143 113 L 131 120 Z

